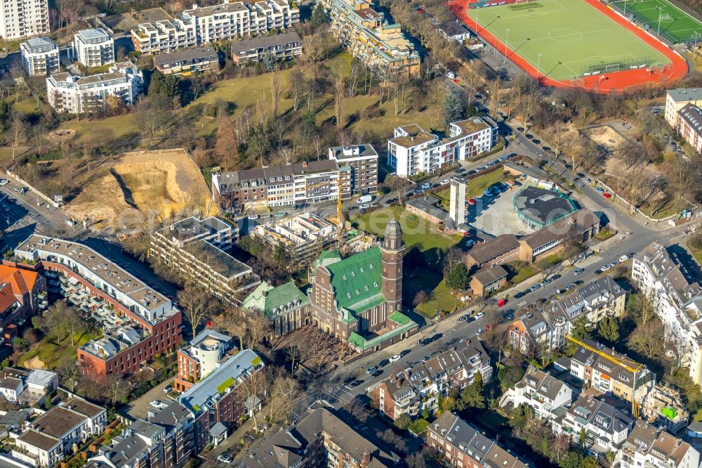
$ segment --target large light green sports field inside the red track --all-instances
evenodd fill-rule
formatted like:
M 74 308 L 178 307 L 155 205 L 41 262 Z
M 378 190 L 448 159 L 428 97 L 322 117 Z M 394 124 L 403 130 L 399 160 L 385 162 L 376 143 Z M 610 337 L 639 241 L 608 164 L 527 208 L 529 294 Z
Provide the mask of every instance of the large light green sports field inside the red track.
M 535 0 L 529 3 L 469 9 L 468 26 L 487 30 L 536 68 L 556 80 L 585 74 L 628 70 L 632 66 L 668 65 L 642 39 L 583 0 Z

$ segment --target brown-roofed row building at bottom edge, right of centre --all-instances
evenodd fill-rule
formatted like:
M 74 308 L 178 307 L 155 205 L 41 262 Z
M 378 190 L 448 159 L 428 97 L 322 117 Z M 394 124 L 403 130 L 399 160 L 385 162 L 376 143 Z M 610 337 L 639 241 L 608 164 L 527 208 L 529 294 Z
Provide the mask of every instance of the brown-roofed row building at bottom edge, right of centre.
M 527 468 L 526 463 L 484 436 L 468 422 L 445 411 L 429 424 L 427 445 L 442 455 L 447 466 L 465 468 Z

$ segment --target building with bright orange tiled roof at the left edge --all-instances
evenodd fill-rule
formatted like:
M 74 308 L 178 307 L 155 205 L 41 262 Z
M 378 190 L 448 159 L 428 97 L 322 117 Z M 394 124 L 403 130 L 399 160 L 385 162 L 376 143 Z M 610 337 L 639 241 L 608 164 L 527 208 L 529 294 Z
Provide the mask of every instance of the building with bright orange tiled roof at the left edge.
M 0 265 L 0 344 L 12 345 L 37 311 L 48 306 L 46 278 L 35 271 Z

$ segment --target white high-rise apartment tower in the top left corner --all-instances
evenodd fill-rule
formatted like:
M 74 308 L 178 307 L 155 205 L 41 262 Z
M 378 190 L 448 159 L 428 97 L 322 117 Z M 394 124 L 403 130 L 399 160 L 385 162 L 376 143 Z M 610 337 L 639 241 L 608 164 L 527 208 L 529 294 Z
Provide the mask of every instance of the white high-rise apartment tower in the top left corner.
M 0 4 L 0 36 L 7 40 L 51 32 L 47 0 L 8 0 Z

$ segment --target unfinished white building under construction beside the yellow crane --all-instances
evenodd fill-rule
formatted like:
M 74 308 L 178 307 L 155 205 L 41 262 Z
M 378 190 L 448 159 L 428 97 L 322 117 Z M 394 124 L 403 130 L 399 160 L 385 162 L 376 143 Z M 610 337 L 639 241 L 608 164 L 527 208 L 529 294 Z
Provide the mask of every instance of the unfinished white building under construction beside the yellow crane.
M 273 249 L 286 248 L 293 264 L 309 264 L 313 259 L 336 245 L 338 226 L 316 213 L 296 214 L 282 221 L 260 224 L 251 235 Z

